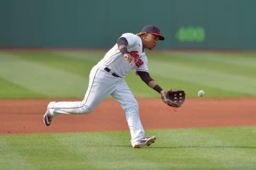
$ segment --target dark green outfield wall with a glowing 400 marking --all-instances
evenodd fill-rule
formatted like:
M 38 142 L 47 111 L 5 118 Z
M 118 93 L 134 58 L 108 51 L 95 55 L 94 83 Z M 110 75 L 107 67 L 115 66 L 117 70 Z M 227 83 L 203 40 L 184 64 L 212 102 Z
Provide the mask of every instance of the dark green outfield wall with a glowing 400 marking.
M 162 49 L 256 49 L 256 1 L 2 0 L 0 47 L 109 48 L 161 28 Z

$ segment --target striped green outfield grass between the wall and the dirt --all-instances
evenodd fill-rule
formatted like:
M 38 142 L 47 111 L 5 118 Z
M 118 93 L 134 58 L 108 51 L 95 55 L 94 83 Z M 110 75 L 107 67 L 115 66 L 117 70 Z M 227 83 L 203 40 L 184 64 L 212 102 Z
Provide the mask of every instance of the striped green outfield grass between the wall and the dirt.
M 105 54 L 86 51 L 0 52 L 0 98 L 83 98 L 90 70 Z M 164 89 L 187 97 L 255 97 L 256 53 L 149 52 L 149 71 Z M 132 71 L 135 97 L 159 97 Z

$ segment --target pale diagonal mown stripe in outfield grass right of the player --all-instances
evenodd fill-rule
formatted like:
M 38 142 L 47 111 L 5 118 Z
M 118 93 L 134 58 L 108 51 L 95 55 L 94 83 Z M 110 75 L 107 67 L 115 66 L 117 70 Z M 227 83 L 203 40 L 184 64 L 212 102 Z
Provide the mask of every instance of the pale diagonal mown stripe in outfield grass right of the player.
M 196 67 L 177 65 L 171 62 L 159 62 L 157 60 L 149 63 L 149 67 L 161 67 L 161 69 L 151 69 L 150 71 L 166 79 L 173 78 L 222 90 L 256 95 L 256 79 L 253 78 L 236 76 L 219 72 L 218 70 L 210 71 Z

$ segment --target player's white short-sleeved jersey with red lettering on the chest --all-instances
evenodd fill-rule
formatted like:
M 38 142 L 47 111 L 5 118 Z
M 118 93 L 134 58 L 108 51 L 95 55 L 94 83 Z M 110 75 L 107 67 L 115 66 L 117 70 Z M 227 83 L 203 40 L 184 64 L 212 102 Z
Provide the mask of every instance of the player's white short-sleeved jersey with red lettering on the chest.
M 132 65 L 125 60 L 123 54 L 118 50 L 117 44 L 106 53 L 97 65 L 108 67 L 122 78 L 134 69 L 148 72 L 148 59 L 145 52 L 142 51 L 141 38 L 133 33 L 124 33 L 121 37 L 124 37 L 128 42 L 127 50 L 134 58 Z

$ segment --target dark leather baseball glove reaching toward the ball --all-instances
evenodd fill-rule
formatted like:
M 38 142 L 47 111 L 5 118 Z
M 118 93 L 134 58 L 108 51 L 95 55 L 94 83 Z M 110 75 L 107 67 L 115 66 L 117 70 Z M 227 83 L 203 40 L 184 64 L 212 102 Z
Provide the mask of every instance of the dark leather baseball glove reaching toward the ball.
M 171 107 L 181 107 L 185 101 L 185 92 L 183 90 L 169 90 L 162 100 L 165 104 Z

